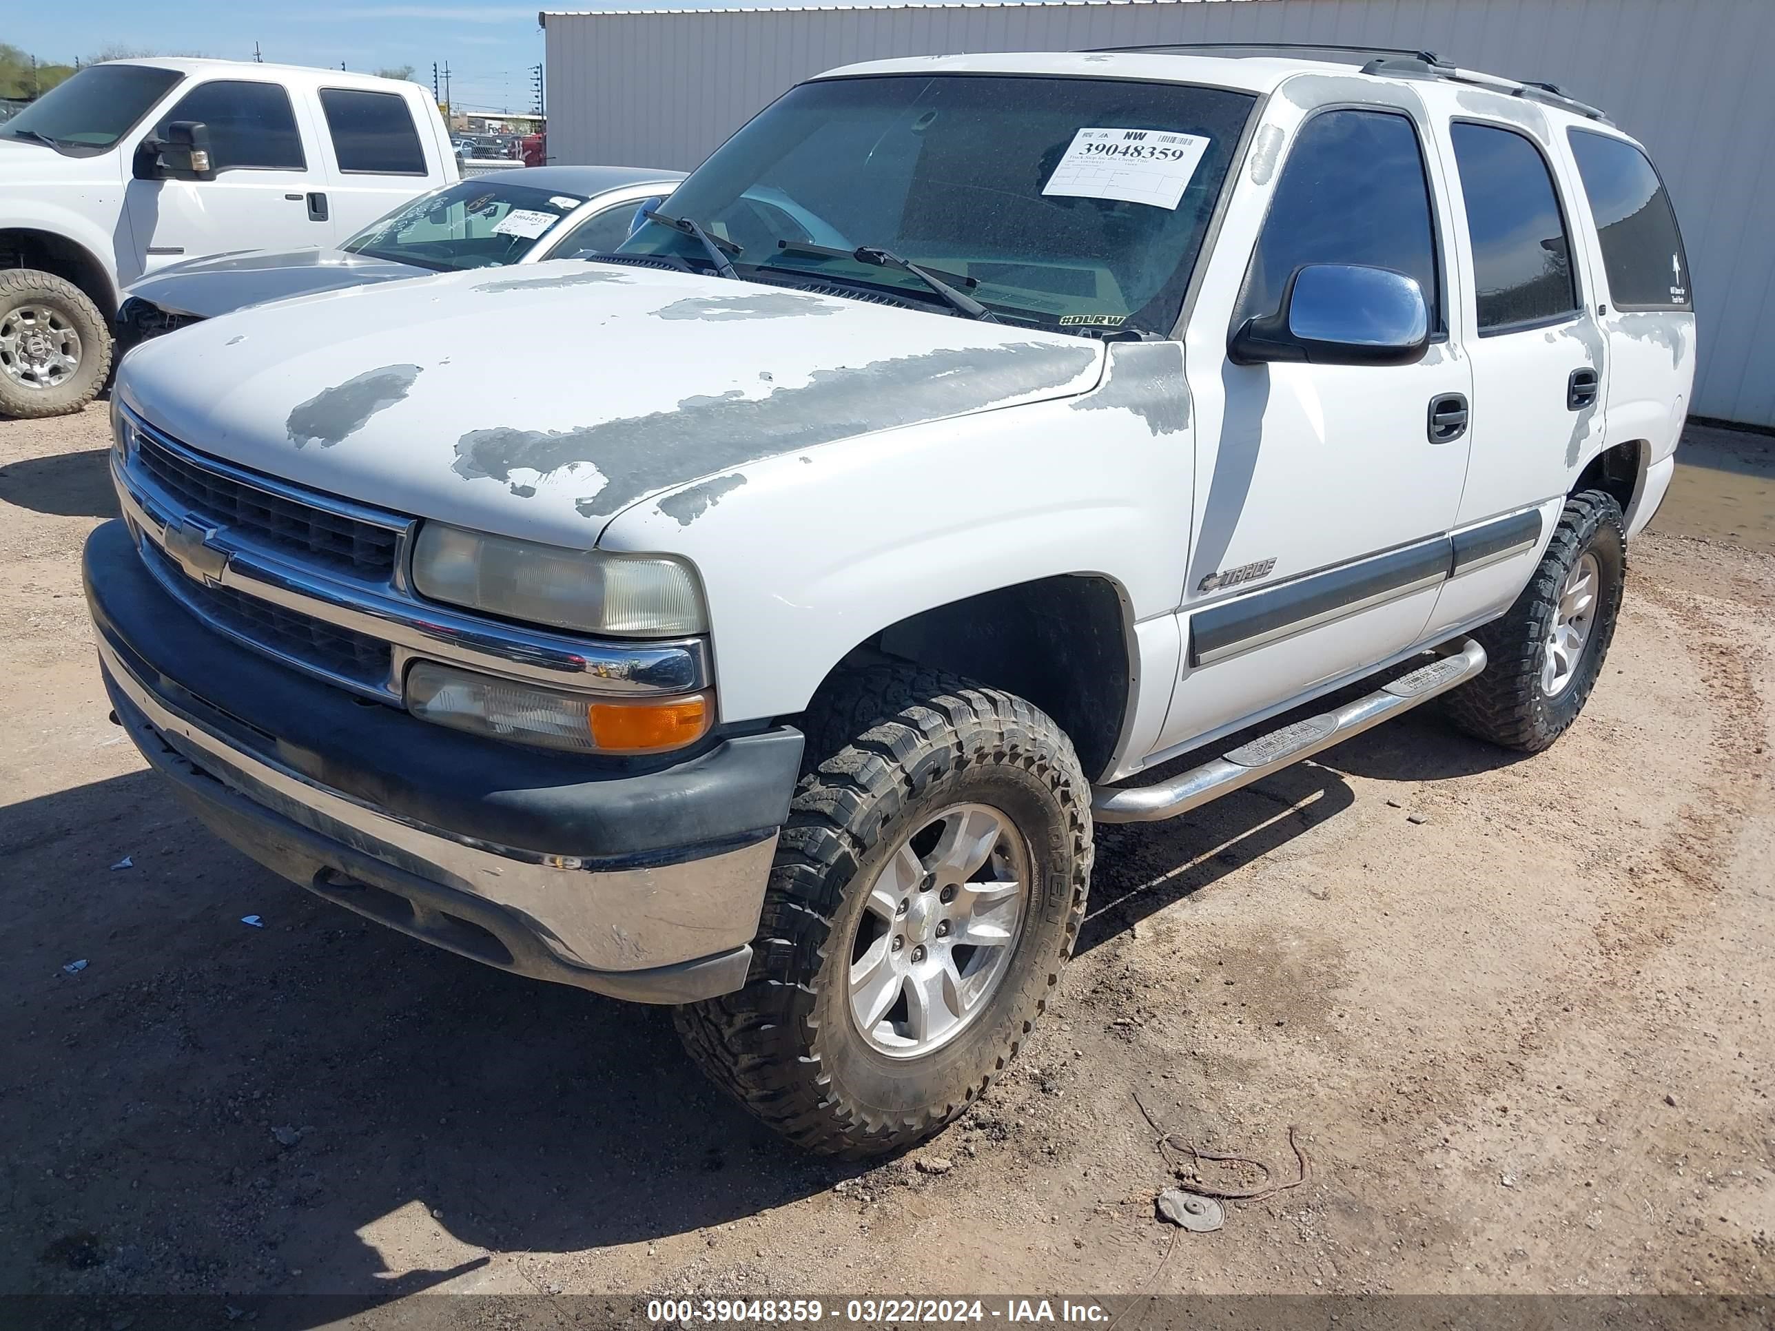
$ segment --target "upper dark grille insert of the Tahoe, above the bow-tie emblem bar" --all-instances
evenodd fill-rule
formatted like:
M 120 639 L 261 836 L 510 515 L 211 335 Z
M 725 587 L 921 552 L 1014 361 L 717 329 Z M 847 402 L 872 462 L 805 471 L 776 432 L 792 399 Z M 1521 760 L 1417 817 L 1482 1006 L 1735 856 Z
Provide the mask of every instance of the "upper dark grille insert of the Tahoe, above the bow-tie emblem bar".
M 304 555 L 351 577 L 394 577 L 399 532 L 343 513 L 261 490 L 248 481 L 181 456 L 147 431 L 135 437 L 137 460 L 154 483 L 213 525 L 250 534 L 277 550 Z

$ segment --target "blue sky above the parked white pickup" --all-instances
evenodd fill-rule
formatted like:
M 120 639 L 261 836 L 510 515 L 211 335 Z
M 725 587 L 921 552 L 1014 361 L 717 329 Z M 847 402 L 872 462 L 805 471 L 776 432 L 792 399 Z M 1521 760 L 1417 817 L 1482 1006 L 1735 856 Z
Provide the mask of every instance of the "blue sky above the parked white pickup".
M 543 59 L 536 11 L 596 4 L 378 4 L 364 0 L 73 0 L 9 4 L 0 41 L 39 60 L 71 62 L 106 46 L 376 69 L 410 64 L 431 82 L 431 62 L 449 60 L 460 106 L 529 110 L 529 67 Z M 618 7 L 618 5 L 611 5 Z

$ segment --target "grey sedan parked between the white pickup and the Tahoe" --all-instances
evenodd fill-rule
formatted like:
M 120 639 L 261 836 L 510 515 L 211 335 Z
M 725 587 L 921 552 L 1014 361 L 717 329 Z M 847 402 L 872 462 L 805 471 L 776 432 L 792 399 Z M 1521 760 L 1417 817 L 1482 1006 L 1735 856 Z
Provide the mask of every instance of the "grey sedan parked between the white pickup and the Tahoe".
M 614 250 L 646 199 L 680 170 L 543 167 L 492 170 L 396 208 L 339 247 L 247 250 L 162 268 L 124 291 L 117 353 L 241 305 L 406 277 Z

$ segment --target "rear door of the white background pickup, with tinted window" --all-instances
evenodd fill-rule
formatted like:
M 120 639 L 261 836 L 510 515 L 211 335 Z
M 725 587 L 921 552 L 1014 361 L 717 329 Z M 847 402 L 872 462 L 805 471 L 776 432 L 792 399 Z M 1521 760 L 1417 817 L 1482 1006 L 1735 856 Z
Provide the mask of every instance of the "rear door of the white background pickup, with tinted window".
M 323 87 L 320 119 L 327 137 L 327 201 L 334 234 L 346 240 L 414 195 L 456 177 L 446 169 L 437 135 L 421 133 L 421 96 Z M 431 119 L 437 112 L 431 114 Z M 426 121 L 430 128 L 430 121 Z

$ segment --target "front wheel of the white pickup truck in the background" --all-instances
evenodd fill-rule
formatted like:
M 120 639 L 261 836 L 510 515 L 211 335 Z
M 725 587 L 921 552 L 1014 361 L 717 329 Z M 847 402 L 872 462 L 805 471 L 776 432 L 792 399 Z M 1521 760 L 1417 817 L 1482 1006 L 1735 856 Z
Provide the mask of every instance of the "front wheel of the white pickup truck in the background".
M 0 273 L 0 413 L 78 412 L 108 369 L 105 316 L 80 287 L 34 268 Z

